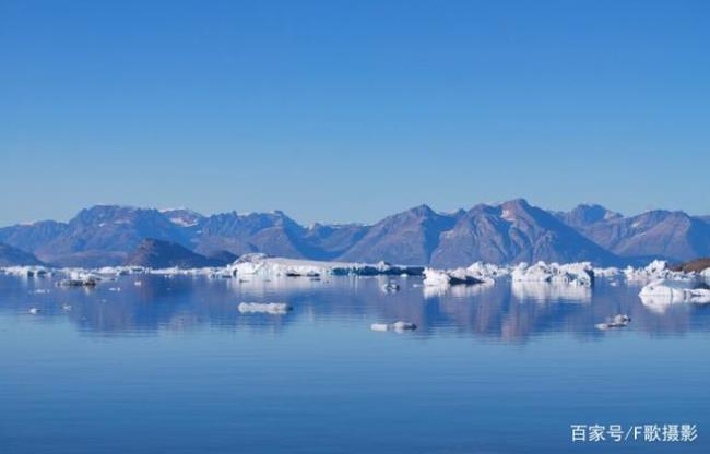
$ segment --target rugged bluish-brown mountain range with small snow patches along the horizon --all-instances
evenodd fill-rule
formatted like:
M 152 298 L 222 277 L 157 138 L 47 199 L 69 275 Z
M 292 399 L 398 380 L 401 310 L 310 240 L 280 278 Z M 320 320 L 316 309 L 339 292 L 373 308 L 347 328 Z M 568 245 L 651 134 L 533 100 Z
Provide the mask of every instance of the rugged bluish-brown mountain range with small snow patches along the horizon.
M 710 255 L 710 216 L 659 210 L 626 217 L 594 204 L 553 212 L 518 199 L 453 213 L 419 205 L 372 225 L 303 226 L 280 211 L 204 216 L 187 208 L 96 205 L 68 223 L 0 228 L 0 243 L 5 265 L 34 260 L 103 266 L 137 258 L 155 264 L 180 258 L 217 263 L 250 252 L 440 267 L 539 260 L 624 265 Z

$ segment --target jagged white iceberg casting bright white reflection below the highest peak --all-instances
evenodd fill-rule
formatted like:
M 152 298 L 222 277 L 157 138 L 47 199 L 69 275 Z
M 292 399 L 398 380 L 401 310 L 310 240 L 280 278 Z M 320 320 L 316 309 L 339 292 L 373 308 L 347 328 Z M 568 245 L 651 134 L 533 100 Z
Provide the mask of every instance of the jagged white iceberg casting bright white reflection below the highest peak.
M 594 270 L 589 262 L 564 265 L 537 262 L 530 266 L 521 263 L 513 268 L 511 277 L 513 283 L 551 283 L 591 287 L 594 282 Z

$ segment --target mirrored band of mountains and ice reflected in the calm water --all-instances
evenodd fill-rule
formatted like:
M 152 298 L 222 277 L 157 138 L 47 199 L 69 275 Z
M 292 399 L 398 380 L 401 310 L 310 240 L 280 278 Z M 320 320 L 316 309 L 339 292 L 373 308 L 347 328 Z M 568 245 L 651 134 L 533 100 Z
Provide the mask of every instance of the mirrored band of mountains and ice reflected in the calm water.
M 140 280 L 140 285 L 135 285 Z M 95 289 L 59 288 L 51 278 L 0 276 L 0 320 L 21 316 L 37 323 L 69 320 L 93 335 L 154 335 L 161 330 L 252 330 L 279 333 L 293 324 L 414 322 L 415 336 L 474 335 L 524 342 L 568 332 L 580 338 L 604 335 L 595 323 L 629 314 L 626 328 L 651 335 L 710 327 L 710 308 L 643 304 L 636 286 L 601 280 L 593 289 L 500 280 L 493 286 L 431 289 L 419 278 L 397 278 L 401 291 L 386 294 L 390 278 L 280 278 L 239 282 L 189 276 L 123 276 Z M 240 301 L 283 301 L 286 315 L 239 314 Z M 66 309 L 71 306 L 71 309 Z M 37 308 L 37 315 L 29 314 Z

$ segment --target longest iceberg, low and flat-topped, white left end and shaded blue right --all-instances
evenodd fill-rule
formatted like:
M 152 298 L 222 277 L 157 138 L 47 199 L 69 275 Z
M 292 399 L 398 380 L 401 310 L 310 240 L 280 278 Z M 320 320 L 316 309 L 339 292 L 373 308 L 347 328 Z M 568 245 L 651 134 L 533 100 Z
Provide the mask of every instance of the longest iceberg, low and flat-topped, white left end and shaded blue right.
M 320 262 L 315 260 L 281 259 L 262 253 L 246 254 L 227 267 L 233 276 L 239 278 L 253 276 L 271 277 L 321 277 L 326 275 L 377 276 L 377 275 L 421 275 L 419 266 L 398 266 L 387 262 L 377 264 L 348 262 Z

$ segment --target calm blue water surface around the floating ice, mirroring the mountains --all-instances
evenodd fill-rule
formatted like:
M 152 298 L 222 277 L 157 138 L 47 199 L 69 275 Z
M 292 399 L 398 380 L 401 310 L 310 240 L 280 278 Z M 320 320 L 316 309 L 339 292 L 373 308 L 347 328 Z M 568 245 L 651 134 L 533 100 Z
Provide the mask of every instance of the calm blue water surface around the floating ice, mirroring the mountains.
M 0 452 L 710 452 L 710 307 L 651 310 L 605 282 L 382 282 L 0 276 Z M 627 328 L 594 328 L 617 313 Z M 398 320 L 419 327 L 369 328 Z M 572 444 L 573 423 L 693 423 L 698 439 Z

